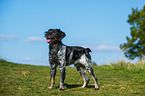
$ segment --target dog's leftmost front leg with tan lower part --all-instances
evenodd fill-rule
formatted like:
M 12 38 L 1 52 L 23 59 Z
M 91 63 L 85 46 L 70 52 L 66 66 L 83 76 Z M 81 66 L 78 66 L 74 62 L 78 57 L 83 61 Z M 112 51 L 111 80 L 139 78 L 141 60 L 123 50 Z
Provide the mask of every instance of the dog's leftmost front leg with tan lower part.
M 47 87 L 49 89 L 52 89 L 52 87 L 54 85 L 55 75 L 56 75 L 56 68 L 57 68 L 57 66 L 55 64 L 50 66 L 51 78 L 50 78 L 50 85 L 49 85 L 49 87 Z

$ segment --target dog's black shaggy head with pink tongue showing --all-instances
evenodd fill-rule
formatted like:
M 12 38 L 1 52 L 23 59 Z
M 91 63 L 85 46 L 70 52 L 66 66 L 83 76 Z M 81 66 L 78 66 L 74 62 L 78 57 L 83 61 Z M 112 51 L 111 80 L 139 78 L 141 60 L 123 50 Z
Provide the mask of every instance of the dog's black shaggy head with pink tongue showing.
M 65 33 L 60 29 L 49 29 L 45 32 L 46 42 L 54 43 L 57 41 L 61 41 L 65 37 Z

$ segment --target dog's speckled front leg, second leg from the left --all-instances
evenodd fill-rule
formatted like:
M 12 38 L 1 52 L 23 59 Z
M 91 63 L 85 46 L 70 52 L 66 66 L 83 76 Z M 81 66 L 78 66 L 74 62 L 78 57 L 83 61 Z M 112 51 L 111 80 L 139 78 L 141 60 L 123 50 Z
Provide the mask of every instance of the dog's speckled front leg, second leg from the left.
M 64 90 L 64 81 L 65 81 L 65 66 L 60 66 L 60 87 L 59 87 L 59 90 Z

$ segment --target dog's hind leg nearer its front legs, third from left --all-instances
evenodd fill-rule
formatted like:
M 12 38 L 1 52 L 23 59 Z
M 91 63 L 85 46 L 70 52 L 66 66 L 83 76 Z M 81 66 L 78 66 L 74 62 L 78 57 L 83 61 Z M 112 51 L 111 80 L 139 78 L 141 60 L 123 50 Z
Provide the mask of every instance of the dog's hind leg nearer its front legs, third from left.
M 83 86 L 81 86 L 81 88 L 85 88 L 90 81 L 90 79 L 88 78 L 88 76 L 86 74 L 86 68 L 85 68 L 85 66 L 83 66 L 81 64 L 75 64 L 75 67 L 77 68 L 77 71 L 80 73 L 80 75 L 84 79 L 84 84 L 83 84 Z

